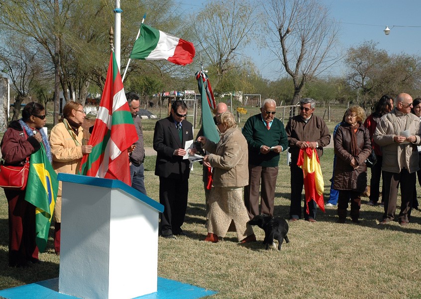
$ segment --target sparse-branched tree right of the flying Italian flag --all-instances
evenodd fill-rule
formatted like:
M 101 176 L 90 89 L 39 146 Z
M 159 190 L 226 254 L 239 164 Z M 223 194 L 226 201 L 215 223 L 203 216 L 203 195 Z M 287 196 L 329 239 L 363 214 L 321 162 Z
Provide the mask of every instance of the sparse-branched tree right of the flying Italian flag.
M 216 75 L 214 89 L 232 90 L 232 70 L 243 67 L 241 51 L 253 40 L 258 30 L 256 5 L 248 0 L 207 2 L 194 22 L 197 53 L 202 54 L 208 69 Z M 223 78 L 223 76 L 229 78 Z

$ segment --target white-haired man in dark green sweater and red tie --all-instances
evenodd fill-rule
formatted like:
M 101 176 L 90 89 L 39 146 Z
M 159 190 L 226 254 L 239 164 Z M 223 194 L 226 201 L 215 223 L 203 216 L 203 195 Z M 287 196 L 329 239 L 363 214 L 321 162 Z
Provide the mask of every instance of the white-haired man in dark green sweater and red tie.
M 250 117 L 243 128 L 248 144 L 249 170 L 248 185 L 244 187 L 244 204 L 250 219 L 259 215 L 260 181 L 260 213 L 273 216 L 279 153 L 288 147 L 284 124 L 275 118 L 276 102 L 266 99 L 260 112 Z

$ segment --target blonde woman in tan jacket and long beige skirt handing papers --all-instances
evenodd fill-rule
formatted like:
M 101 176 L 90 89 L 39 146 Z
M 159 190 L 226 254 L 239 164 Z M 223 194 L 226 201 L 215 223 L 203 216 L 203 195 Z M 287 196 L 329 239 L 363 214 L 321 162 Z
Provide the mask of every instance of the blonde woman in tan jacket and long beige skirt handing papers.
M 244 206 L 243 187 L 248 184 L 248 147 L 230 112 L 216 116 L 220 140 L 217 144 L 199 137 L 202 147 L 210 152 L 204 161 L 213 167 L 213 188 L 209 199 L 208 236 L 205 241 L 218 242 L 234 222 L 238 241 L 256 241 Z

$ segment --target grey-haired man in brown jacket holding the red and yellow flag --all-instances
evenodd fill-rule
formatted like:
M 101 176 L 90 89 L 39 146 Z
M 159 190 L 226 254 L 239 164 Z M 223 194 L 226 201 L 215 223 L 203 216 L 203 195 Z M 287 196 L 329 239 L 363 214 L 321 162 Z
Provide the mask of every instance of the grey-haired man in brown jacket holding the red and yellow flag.
M 330 134 L 324 121 L 313 114 L 316 102 L 305 98 L 300 101 L 300 115 L 292 117 L 287 124 L 287 136 L 291 153 L 291 206 L 290 221 L 301 218 L 301 202 L 304 185 L 303 169 L 297 166 L 300 149 L 316 149 L 317 155 L 323 154 L 323 147 L 330 143 Z M 304 205 L 304 219 L 316 222 L 316 201 Z

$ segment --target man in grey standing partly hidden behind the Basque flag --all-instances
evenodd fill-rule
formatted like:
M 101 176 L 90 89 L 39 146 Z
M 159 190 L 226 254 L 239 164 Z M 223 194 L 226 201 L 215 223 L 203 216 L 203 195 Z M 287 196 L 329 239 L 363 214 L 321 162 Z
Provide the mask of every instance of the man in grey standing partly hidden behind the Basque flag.
M 139 96 L 134 92 L 129 92 L 126 93 L 126 99 L 133 118 L 134 126 L 136 127 L 137 137 L 139 137 L 139 140 L 136 141 L 132 147 L 133 150 L 129 153 L 131 186 L 146 195 L 144 174 L 145 167 L 143 165 L 143 161 L 145 159 L 143 130 L 142 123 L 137 115 L 140 107 Z

